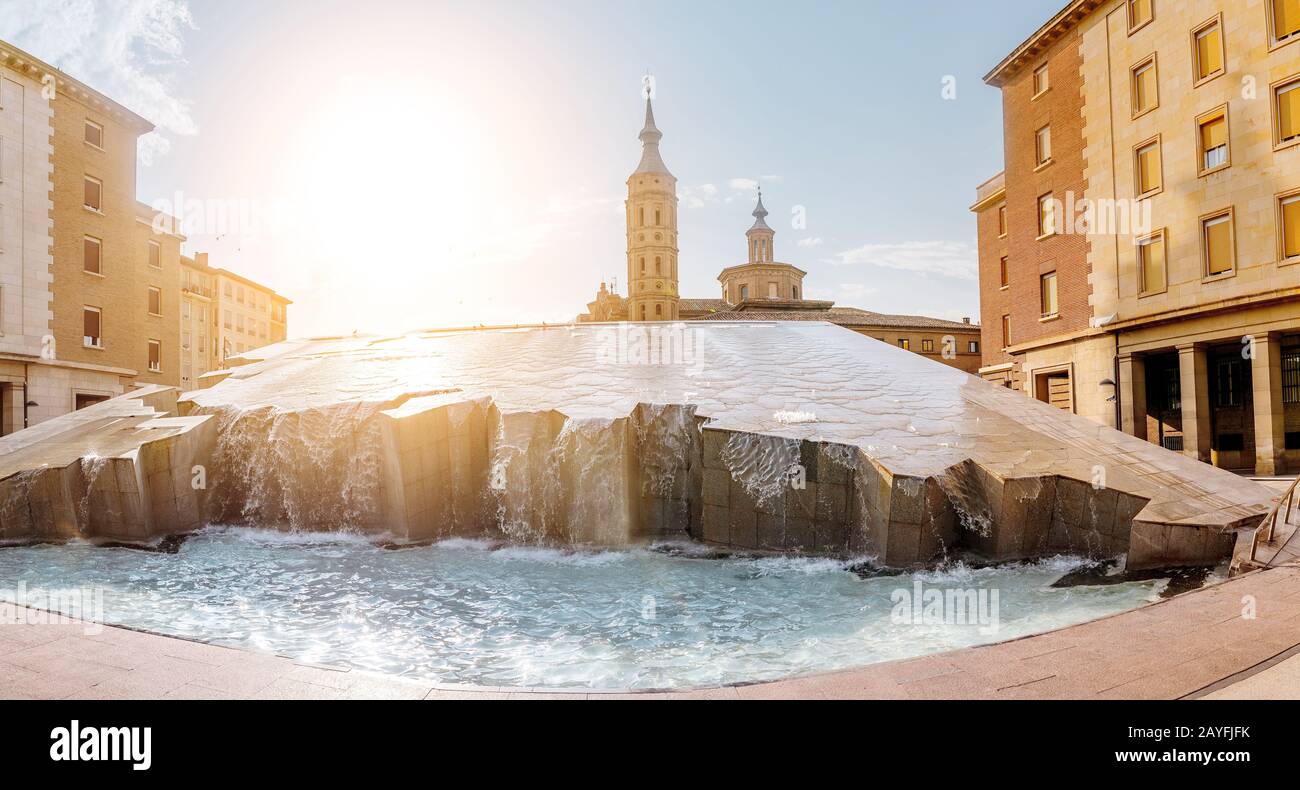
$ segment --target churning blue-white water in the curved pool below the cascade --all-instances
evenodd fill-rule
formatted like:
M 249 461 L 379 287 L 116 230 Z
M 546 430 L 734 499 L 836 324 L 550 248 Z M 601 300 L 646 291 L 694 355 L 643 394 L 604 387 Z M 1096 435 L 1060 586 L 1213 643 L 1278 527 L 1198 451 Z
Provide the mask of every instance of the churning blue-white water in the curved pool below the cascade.
M 776 680 L 1002 641 L 1126 611 L 1160 582 L 1052 589 L 1079 561 L 862 578 L 842 560 L 650 550 L 404 551 L 346 533 L 208 529 L 178 554 L 0 550 L 0 587 L 100 587 L 108 622 L 430 681 L 663 689 Z M 893 595 L 998 592 L 1000 629 L 898 624 Z

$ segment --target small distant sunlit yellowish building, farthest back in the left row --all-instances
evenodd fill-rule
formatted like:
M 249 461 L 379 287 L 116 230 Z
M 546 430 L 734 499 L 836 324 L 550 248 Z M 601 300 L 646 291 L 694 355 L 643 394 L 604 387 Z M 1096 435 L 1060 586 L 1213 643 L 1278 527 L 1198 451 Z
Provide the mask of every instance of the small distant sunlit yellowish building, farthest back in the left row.
M 228 357 L 278 343 L 287 337 L 289 305 L 292 301 L 234 272 L 212 272 L 217 368 L 224 368 Z

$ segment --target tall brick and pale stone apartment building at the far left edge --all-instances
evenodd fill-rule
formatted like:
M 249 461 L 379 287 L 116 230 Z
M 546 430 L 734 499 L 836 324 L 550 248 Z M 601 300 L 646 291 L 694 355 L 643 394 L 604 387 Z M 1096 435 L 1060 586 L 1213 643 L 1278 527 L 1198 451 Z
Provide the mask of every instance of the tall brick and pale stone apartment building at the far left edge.
M 135 200 L 153 127 L 0 43 L 0 399 L 5 433 L 177 383 L 183 239 Z

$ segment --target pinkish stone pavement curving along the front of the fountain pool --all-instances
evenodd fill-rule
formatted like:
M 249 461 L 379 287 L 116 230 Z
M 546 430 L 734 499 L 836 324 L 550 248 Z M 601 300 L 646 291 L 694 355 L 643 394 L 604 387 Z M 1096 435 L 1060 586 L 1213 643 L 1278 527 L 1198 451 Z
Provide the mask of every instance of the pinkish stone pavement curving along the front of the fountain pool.
M 1243 617 L 1253 605 L 1254 617 Z M 20 620 L 26 613 L 18 609 Z M 1209 691 L 1209 693 L 1206 693 Z M 1036 637 L 724 689 L 436 685 L 84 624 L 0 624 L 0 699 L 1300 698 L 1300 568 L 1261 570 Z

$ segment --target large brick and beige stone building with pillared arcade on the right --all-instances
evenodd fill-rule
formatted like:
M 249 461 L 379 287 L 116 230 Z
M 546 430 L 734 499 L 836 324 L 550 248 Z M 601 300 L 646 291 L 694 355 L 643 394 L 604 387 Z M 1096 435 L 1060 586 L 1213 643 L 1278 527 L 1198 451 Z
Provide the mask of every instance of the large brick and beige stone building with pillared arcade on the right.
M 984 378 L 1300 472 L 1297 43 L 1300 0 L 1075 0 L 997 65 Z

